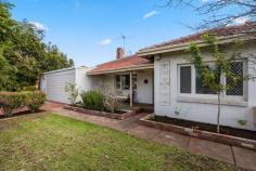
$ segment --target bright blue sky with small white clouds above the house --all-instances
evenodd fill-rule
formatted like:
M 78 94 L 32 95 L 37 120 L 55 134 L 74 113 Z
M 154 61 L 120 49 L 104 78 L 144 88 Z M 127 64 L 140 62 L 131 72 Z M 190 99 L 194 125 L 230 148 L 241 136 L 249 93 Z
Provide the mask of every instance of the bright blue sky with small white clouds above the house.
M 183 24 L 200 17 L 189 8 L 162 8 L 164 0 L 10 0 L 13 17 L 46 29 L 46 40 L 74 58 L 93 66 L 115 58 L 128 36 L 127 54 L 191 34 Z M 199 0 L 200 3 L 200 0 Z

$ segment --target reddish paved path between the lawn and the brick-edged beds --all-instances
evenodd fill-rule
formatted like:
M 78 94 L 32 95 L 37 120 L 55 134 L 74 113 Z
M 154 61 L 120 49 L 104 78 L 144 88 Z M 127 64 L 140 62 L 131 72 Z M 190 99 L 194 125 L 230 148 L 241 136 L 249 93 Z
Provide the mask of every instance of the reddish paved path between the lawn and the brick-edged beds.
M 226 161 L 244 169 L 256 171 L 256 150 L 230 146 L 139 124 L 139 119 L 148 114 L 140 114 L 125 120 L 116 120 L 66 110 L 63 109 L 62 104 L 50 102 L 43 106 L 43 109 L 56 111 L 63 116 L 127 132 L 140 139 L 185 148 L 192 153 L 203 154 L 217 160 Z

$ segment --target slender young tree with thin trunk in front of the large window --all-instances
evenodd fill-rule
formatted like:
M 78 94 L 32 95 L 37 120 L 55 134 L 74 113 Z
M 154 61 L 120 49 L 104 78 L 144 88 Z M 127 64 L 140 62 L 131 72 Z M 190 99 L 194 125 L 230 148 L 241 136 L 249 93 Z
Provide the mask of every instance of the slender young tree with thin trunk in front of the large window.
M 228 54 L 219 49 L 215 36 L 210 36 L 206 32 L 202 36 L 202 39 L 206 43 L 206 48 L 214 60 L 212 64 L 214 64 L 215 68 L 209 68 L 206 63 L 203 62 L 201 50 L 195 43 L 191 43 L 188 50 L 191 54 L 189 61 L 194 64 L 203 86 L 207 87 L 218 96 L 217 132 L 219 133 L 221 94 L 225 91 L 232 90 L 239 82 L 245 79 L 243 75 L 238 75 L 231 69 L 231 65 L 234 62 L 242 60 L 241 53 L 239 52 L 242 43 L 239 41 L 234 42 L 232 53 Z M 229 83 L 221 81 L 223 76 L 229 80 Z

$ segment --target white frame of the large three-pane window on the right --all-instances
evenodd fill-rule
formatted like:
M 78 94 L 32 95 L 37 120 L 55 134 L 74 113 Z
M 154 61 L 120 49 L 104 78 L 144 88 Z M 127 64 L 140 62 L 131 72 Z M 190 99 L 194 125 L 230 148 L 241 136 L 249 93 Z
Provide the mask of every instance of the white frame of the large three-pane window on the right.
M 206 61 L 205 63 L 213 63 L 214 61 Z M 238 60 L 238 61 L 234 61 L 234 62 L 243 62 L 243 76 L 246 76 L 247 74 L 247 61 L 246 60 Z M 191 93 L 181 93 L 181 89 L 180 89 L 180 68 L 183 67 L 183 66 L 191 66 Z M 178 95 L 179 96 L 183 96 L 183 97 L 203 97 L 203 98 L 217 98 L 217 94 L 197 94 L 196 93 L 196 69 L 194 67 L 194 65 L 192 63 L 182 63 L 182 64 L 178 64 L 177 66 L 177 78 L 178 78 L 178 81 L 177 81 L 177 86 L 178 86 Z M 221 78 L 220 78 L 220 82 L 222 83 L 226 83 L 226 77 L 225 75 L 222 74 L 221 75 Z M 221 93 L 221 97 L 223 100 L 228 100 L 228 101 L 242 101 L 242 102 L 245 102 L 247 101 L 247 81 L 244 80 L 243 81 L 243 95 L 227 95 L 226 91 L 223 91 Z

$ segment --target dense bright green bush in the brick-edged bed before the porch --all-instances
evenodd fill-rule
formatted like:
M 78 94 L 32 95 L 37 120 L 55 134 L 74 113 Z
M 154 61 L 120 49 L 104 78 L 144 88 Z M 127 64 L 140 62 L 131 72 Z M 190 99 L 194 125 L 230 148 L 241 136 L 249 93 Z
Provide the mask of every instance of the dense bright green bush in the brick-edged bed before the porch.
M 102 111 L 104 109 L 104 95 L 98 91 L 87 91 L 81 93 L 82 106 L 87 109 Z

